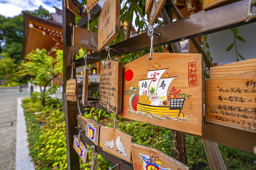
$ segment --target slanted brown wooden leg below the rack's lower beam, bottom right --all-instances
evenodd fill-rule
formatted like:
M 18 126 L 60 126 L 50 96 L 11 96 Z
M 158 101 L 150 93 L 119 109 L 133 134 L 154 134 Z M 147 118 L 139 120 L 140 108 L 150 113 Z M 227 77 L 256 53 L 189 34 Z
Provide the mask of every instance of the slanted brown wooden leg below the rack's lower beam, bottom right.
M 202 139 L 211 170 L 227 170 L 217 143 Z

